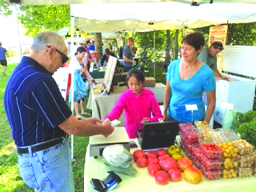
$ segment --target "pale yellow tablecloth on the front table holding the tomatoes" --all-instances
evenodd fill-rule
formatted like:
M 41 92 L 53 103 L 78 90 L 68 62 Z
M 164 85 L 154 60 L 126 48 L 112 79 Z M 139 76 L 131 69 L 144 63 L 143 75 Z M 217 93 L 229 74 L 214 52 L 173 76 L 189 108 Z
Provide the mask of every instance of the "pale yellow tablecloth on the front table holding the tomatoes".
M 135 149 L 130 150 L 132 153 Z M 254 192 L 256 191 L 256 177 L 248 178 L 219 178 L 217 180 L 206 180 L 202 178 L 198 184 L 192 184 L 186 182 L 182 175 L 182 180 L 178 182 L 168 182 L 166 185 L 159 185 L 154 181 L 154 178 L 148 174 L 146 168 L 141 168 L 134 164 L 134 169 L 138 171 L 138 175 L 135 178 L 127 176 L 125 174 L 118 174 L 122 178 L 122 182 L 114 189 L 118 192 L 141 192 L 141 191 L 152 191 L 152 192 L 170 192 L 170 191 L 190 191 L 190 192 Z M 102 157 L 94 158 L 90 157 L 90 146 L 87 146 L 86 150 L 86 164 L 84 174 L 84 191 L 96 191 L 90 185 L 91 178 L 103 179 L 106 178 L 110 170 L 107 167 Z

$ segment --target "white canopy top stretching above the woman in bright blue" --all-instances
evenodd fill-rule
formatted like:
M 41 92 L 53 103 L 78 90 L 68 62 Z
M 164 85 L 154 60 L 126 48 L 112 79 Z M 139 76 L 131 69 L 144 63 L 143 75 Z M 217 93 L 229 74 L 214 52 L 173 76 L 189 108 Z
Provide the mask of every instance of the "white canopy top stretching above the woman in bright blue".
M 106 13 L 106 10 L 109 11 Z M 242 3 L 208 3 L 200 6 L 182 2 L 70 5 L 70 14 L 75 17 L 74 25 L 85 32 L 174 30 L 256 22 L 255 10 L 256 4 Z

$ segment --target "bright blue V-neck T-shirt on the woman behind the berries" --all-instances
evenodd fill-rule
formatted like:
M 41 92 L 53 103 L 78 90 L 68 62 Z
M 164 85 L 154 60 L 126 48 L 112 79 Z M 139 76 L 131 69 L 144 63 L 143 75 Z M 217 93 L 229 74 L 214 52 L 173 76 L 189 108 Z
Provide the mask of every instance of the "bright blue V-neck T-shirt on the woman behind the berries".
M 179 75 L 180 62 L 180 59 L 171 62 L 166 74 L 171 89 L 168 114 L 178 122 L 202 120 L 205 117 L 202 93 L 215 90 L 214 72 L 209 66 L 202 64 L 192 77 L 182 80 Z M 186 110 L 186 105 L 197 105 L 198 110 L 194 110 L 192 114 L 191 110 Z

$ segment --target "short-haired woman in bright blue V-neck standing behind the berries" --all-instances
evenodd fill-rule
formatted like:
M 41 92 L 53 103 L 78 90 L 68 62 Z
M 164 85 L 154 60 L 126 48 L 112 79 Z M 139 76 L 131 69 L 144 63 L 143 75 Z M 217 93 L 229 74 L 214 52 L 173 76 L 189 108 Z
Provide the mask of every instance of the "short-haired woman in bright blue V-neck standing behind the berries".
M 210 122 L 216 102 L 216 84 L 213 71 L 198 60 L 204 42 L 200 32 L 187 34 L 182 40 L 182 59 L 174 60 L 168 66 L 163 111 L 165 120 Z M 204 91 L 208 102 L 206 112 L 202 102 Z M 198 110 L 186 110 L 186 106 L 191 105 Z

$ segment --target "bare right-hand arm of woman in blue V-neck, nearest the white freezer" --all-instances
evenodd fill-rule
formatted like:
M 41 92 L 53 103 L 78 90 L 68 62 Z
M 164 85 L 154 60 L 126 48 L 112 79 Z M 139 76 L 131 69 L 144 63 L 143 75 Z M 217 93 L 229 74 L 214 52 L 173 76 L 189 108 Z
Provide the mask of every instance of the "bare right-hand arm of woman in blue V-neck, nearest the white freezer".
M 206 117 L 204 118 L 204 122 L 209 124 L 211 116 L 214 114 L 215 109 L 215 102 L 216 102 L 216 95 L 215 90 L 206 91 L 206 98 L 207 98 L 207 110 L 206 110 Z

